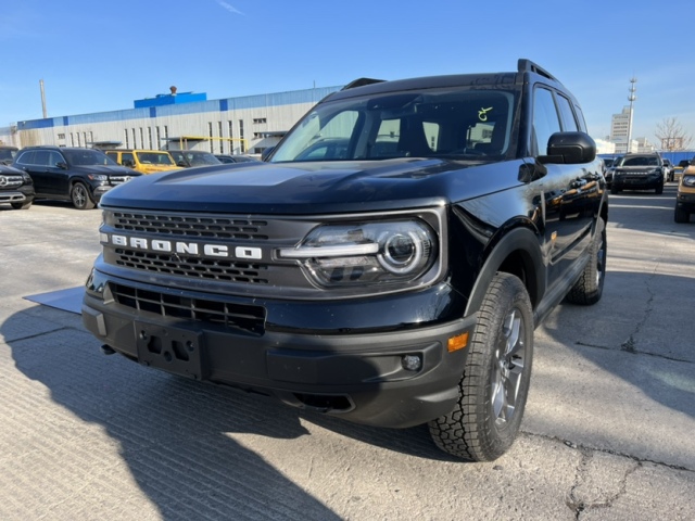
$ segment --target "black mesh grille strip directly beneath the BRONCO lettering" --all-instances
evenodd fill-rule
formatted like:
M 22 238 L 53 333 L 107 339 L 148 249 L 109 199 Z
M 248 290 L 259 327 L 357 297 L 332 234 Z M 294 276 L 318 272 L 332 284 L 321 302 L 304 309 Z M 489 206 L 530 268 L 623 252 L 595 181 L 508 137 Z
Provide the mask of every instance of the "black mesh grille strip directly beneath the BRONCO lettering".
M 263 264 L 138 252 L 121 247 L 117 247 L 115 253 L 116 264 L 127 268 L 229 282 L 268 283 L 263 276 L 268 267 Z

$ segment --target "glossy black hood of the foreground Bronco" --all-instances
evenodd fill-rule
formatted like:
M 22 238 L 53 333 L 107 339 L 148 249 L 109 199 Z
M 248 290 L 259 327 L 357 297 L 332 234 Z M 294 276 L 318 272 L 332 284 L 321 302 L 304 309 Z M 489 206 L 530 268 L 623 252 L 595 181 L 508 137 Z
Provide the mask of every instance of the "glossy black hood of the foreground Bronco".
M 505 164 L 518 169 L 511 163 Z M 111 190 L 101 205 L 288 215 L 425 207 L 509 188 L 508 169 L 500 166 L 419 158 L 225 164 L 141 176 Z

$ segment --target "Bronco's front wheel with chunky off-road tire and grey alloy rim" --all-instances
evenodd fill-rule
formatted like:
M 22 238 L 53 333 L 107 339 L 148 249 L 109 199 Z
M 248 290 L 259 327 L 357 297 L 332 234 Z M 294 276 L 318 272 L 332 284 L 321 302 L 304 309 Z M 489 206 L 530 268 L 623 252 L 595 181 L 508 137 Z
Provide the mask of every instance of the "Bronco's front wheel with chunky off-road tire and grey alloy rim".
M 429 422 L 430 434 L 453 456 L 492 461 L 519 432 L 531 379 L 533 312 L 517 277 L 493 278 L 467 348 L 458 402 Z

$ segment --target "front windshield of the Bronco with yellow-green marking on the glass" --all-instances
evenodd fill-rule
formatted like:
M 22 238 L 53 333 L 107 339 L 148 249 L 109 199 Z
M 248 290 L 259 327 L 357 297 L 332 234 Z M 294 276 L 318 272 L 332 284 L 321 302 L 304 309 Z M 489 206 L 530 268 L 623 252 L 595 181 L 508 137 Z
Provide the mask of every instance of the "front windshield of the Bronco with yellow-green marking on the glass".
M 268 161 L 501 156 L 509 148 L 514 98 L 511 91 L 458 88 L 329 101 Z

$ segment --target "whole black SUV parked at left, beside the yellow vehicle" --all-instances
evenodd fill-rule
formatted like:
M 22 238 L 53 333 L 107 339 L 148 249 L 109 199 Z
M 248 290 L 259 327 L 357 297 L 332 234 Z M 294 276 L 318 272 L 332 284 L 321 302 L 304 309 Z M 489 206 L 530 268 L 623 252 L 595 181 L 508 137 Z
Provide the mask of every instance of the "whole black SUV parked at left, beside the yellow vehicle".
M 93 208 L 113 187 L 140 176 L 99 150 L 80 148 L 27 147 L 13 166 L 31 176 L 37 199 L 68 200 L 78 209 Z

